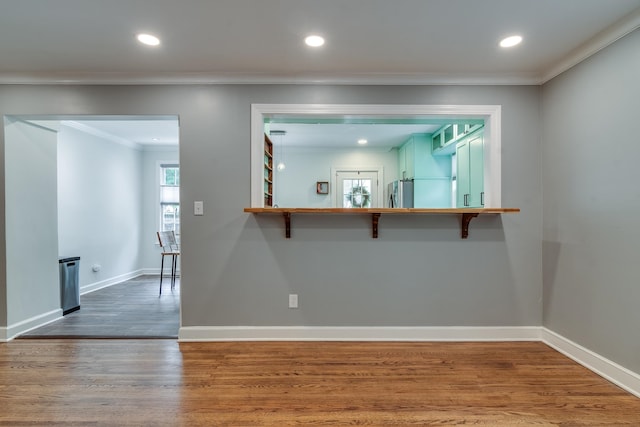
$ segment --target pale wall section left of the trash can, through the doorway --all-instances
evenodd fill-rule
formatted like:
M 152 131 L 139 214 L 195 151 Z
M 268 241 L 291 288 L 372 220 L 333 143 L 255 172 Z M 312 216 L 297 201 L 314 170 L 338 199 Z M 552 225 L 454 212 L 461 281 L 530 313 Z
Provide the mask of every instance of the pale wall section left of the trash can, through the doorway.
M 7 325 L 60 309 L 56 133 L 5 120 Z

